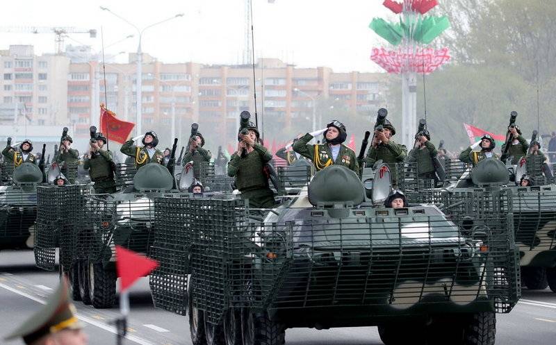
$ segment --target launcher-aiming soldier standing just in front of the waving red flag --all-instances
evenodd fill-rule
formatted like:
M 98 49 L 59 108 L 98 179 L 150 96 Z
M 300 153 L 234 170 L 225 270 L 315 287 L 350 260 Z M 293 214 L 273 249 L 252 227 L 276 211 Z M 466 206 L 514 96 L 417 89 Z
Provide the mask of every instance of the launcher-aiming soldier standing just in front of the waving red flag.
M 93 187 L 97 194 L 116 192 L 112 153 L 103 149 L 107 141 L 102 133 L 97 132 L 95 139 L 89 143 L 89 153 L 85 155 L 83 163 L 83 169 L 89 170 L 91 180 L 95 183 Z

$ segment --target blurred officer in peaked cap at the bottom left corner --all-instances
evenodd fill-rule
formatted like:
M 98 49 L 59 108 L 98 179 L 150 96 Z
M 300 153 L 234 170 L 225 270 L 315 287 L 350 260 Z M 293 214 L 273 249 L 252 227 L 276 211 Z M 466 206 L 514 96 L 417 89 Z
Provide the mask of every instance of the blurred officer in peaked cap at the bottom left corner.
M 5 339 L 22 337 L 28 345 L 86 345 L 87 335 L 70 302 L 67 280 L 49 297 L 47 304 Z

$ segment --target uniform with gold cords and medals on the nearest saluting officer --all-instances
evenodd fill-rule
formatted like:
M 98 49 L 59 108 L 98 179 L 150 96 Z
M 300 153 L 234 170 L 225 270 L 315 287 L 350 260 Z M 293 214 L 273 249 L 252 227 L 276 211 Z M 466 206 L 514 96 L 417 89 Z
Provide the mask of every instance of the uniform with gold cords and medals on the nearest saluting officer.
M 293 144 L 293 151 L 299 153 L 305 158 L 310 159 L 316 168 L 316 171 L 320 171 L 328 167 L 329 165 L 343 165 L 348 169 L 354 171 L 355 174 L 359 176 L 359 164 L 357 163 L 357 157 L 352 149 L 341 144 L 340 151 L 336 160 L 332 159 L 332 150 L 329 144 L 318 144 L 312 145 L 309 142 L 313 139 L 313 135 L 306 133 L 302 136 L 300 140 L 297 140 Z

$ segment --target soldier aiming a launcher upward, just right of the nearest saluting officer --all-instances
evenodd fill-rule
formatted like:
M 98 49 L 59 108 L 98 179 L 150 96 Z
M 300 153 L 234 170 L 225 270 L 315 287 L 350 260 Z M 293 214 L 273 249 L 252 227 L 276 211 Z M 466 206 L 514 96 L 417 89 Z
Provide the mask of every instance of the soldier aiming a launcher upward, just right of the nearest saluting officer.
M 395 128 L 389 120 L 384 120 L 383 127 L 382 131 L 377 131 L 375 128 L 375 137 L 367 151 L 365 166 L 373 167 L 375 162 L 382 160 L 383 163 L 389 165 L 392 185 L 396 185 L 398 178 L 396 163 L 404 161 L 407 155 L 407 148 L 405 145 L 397 144 L 392 140 L 392 137 L 395 135 Z

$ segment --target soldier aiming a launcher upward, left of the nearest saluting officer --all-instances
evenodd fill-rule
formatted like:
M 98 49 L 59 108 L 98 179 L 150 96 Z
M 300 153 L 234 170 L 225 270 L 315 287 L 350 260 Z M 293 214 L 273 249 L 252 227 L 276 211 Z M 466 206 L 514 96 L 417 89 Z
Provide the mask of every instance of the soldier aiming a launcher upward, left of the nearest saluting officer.
M 252 208 L 273 208 L 274 192 L 268 185 L 268 176 L 263 171 L 272 160 L 272 153 L 259 144 L 259 130 L 249 122 L 248 135 L 238 133 L 238 151 L 228 162 L 228 176 L 235 177 L 236 188 L 242 199 L 249 199 Z

